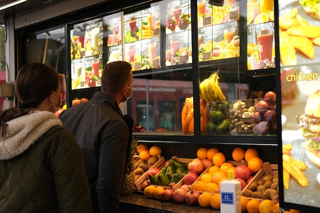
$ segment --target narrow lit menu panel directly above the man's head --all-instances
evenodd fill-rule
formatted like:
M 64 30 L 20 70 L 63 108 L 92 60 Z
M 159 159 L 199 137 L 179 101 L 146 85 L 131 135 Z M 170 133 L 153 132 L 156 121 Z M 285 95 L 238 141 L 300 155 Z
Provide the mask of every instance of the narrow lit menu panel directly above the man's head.
M 107 20 L 107 63 L 122 60 L 122 24 L 121 13 L 112 14 L 105 17 Z

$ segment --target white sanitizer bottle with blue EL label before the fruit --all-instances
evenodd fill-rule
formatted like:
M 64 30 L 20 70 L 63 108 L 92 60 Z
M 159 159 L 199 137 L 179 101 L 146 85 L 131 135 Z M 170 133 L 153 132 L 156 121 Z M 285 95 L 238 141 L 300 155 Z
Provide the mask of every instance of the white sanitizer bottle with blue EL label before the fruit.
M 241 183 L 234 171 L 227 171 L 227 180 L 220 183 L 221 213 L 241 213 Z

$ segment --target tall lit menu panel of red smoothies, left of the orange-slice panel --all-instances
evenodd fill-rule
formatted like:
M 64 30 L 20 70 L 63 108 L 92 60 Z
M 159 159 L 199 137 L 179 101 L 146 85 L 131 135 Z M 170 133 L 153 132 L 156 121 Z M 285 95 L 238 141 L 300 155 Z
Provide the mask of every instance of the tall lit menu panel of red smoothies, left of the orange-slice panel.
M 166 2 L 166 66 L 192 62 L 190 0 Z

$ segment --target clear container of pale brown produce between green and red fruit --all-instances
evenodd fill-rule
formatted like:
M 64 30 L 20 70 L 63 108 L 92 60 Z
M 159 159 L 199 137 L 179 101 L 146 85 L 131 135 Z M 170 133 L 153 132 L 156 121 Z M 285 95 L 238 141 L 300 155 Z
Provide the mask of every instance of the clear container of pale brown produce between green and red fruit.
M 230 133 L 232 135 L 253 134 L 254 104 L 252 99 L 230 101 Z

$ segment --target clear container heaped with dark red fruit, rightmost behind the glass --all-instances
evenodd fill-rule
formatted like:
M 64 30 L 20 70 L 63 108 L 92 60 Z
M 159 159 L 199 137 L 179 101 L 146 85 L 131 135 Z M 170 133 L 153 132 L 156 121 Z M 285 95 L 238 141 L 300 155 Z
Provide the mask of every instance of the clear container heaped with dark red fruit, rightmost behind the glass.
M 254 109 L 254 134 L 277 134 L 276 96 L 255 99 Z

